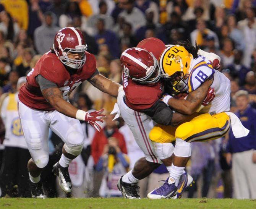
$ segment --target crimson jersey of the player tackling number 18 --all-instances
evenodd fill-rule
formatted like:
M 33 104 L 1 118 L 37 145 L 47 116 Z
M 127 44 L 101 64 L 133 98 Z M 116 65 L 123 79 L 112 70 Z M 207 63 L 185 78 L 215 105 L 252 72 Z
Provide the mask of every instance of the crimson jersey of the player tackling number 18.
M 140 85 L 135 83 L 124 72 L 123 90 L 125 91 L 125 103 L 133 110 L 140 111 L 152 107 L 162 95 L 162 83 L 155 85 Z

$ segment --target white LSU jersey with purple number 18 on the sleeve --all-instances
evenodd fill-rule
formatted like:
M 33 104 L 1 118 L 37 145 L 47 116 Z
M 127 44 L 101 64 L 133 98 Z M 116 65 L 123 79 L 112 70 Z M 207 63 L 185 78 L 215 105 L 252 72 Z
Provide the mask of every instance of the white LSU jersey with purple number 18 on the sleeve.
M 230 81 L 219 71 L 211 66 L 211 62 L 202 56 L 192 60 L 190 76 L 188 78 L 189 92 L 197 89 L 206 79 L 214 78 L 211 85 L 215 89 L 214 100 L 204 107 L 199 113 L 220 113 L 230 110 Z

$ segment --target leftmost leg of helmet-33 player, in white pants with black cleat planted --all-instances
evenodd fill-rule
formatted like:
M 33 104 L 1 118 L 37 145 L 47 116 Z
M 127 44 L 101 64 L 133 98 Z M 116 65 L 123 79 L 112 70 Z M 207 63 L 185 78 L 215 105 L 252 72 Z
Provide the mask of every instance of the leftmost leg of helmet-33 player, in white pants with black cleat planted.
M 29 186 L 32 197 L 45 198 L 42 190 L 41 172 L 49 161 L 49 121 L 45 112 L 33 110 L 18 102 L 21 127 L 28 145 L 31 159 L 28 161 Z

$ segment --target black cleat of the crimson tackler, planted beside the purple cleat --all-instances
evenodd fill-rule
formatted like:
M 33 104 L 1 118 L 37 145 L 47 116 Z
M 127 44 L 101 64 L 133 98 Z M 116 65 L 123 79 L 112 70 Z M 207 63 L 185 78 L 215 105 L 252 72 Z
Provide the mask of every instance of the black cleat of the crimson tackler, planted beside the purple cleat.
M 122 181 L 122 177 L 117 182 L 117 188 L 121 191 L 123 197 L 128 199 L 141 199 L 141 196 L 138 194 L 140 187 L 137 185 L 137 183 L 125 183 Z

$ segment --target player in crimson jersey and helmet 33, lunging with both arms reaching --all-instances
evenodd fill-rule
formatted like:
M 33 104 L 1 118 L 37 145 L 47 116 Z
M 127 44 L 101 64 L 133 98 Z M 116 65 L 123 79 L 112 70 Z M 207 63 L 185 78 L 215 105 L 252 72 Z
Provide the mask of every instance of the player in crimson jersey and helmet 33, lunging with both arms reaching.
M 101 91 L 115 97 L 118 95 L 121 85 L 100 75 L 94 55 L 86 50 L 81 31 L 61 29 L 55 35 L 53 50 L 40 58 L 20 89 L 18 111 L 32 157 L 28 170 L 33 197 L 45 198 L 40 175 L 49 160 L 49 128 L 65 142 L 53 172 L 66 193 L 72 188 L 68 165 L 83 148 L 84 136 L 79 120 L 86 121 L 97 131 L 102 128 L 99 122 L 103 122 L 103 110 L 89 113 L 77 109 L 68 101 L 70 93 L 88 80 Z

